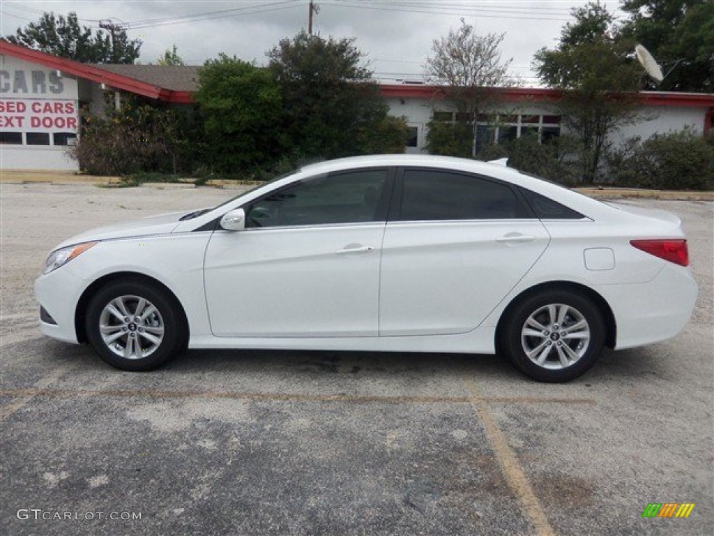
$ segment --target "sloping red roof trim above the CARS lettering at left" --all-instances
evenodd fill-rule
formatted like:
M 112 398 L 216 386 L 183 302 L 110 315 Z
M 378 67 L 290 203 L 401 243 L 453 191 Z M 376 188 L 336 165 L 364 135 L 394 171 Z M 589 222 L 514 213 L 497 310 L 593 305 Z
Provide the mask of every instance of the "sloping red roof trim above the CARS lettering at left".
M 186 98 L 190 99 L 188 91 L 170 91 L 163 89 L 153 84 L 147 84 L 128 76 L 116 74 L 111 71 L 105 71 L 100 67 L 89 66 L 79 63 L 71 59 L 60 58 L 46 52 L 40 52 L 33 49 L 28 49 L 25 46 L 19 46 L 4 39 L 0 39 L 0 54 L 8 54 L 25 61 L 41 64 L 51 69 L 58 69 L 67 74 L 79 76 L 80 78 L 95 81 L 99 84 L 106 84 L 116 89 L 130 91 L 138 95 L 148 96 L 151 99 L 161 99 L 169 102 L 183 102 Z M 188 95 L 188 97 L 186 95 Z M 190 102 L 193 102 L 190 100 Z

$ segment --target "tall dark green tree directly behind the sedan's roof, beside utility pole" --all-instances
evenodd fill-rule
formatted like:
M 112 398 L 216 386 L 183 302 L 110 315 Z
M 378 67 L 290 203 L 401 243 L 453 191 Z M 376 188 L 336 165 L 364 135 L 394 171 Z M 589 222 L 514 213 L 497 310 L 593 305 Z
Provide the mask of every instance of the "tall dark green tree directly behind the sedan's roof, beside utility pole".
M 389 118 L 362 57 L 354 39 L 323 39 L 304 31 L 268 51 L 293 156 L 336 158 L 396 147 L 403 152 L 406 124 Z

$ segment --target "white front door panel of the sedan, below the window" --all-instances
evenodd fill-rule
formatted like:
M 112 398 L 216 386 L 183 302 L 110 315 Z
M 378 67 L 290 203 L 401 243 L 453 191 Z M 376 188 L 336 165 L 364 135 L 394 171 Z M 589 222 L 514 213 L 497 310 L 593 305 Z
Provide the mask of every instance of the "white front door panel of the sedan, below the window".
M 383 222 L 216 232 L 204 279 L 218 337 L 378 334 Z

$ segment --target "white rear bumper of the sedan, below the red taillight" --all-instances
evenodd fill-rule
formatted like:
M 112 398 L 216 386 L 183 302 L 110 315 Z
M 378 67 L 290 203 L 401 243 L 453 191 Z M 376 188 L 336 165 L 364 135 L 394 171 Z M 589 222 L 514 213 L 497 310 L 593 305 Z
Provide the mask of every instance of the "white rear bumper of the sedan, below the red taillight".
M 698 286 L 690 269 L 667 264 L 650 282 L 601 285 L 598 291 L 615 315 L 615 349 L 624 349 L 681 332 L 692 316 Z

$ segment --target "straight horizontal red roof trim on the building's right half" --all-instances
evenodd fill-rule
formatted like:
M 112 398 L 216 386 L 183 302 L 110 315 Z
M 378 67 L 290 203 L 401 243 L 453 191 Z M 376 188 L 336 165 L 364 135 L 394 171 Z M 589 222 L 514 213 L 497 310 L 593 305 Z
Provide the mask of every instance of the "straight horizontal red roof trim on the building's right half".
M 401 99 L 443 99 L 440 86 L 386 84 L 380 86 L 383 96 Z M 507 87 L 496 88 L 497 94 L 508 102 L 535 101 L 557 102 L 563 92 L 558 89 Z M 665 93 L 663 91 L 640 91 L 638 99 L 648 106 L 714 106 L 711 93 Z

